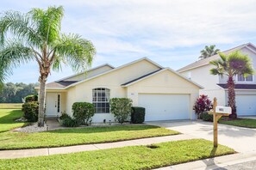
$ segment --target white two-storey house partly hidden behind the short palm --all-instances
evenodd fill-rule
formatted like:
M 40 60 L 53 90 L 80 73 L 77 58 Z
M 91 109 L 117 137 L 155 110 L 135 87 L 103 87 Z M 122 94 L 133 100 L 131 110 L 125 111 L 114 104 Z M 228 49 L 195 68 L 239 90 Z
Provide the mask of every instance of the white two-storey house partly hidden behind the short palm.
M 240 51 L 247 54 L 253 60 L 253 68 L 256 68 L 256 47 L 247 43 L 245 45 L 237 46 L 229 49 L 223 53 Z M 210 75 L 209 70 L 214 66 L 209 64 L 209 61 L 220 58 L 218 54 L 199 60 L 195 63 L 189 64 L 178 70 L 183 76 L 187 76 L 190 80 L 197 82 L 203 86 L 200 94 L 207 94 L 213 100 L 217 98 L 218 104 L 228 105 L 228 88 L 227 76 Z M 247 76 L 247 78 L 237 75 L 235 80 L 236 106 L 239 116 L 256 115 L 256 76 Z

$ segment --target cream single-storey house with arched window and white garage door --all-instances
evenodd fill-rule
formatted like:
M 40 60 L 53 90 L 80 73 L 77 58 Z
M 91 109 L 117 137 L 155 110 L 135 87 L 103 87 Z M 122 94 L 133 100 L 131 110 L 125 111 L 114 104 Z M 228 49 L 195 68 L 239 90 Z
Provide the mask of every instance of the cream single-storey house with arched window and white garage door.
M 197 83 L 148 58 L 117 68 L 104 64 L 86 74 L 47 83 L 46 115 L 72 115 L 74 102 L 91 102 L 96 108 L 93 122 L 114 121 L 109 99 L 127 97 L 133 100 L 133 106 L 146 108 L 146 121 L 192 119 L 196 118 L 192 107 L 199 88 Z

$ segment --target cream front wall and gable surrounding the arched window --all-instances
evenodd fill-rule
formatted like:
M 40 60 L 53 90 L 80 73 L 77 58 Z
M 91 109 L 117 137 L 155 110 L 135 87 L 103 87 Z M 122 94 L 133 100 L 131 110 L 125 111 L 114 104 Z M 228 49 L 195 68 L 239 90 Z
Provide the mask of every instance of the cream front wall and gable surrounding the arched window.
M 109 88 L 110 98 L 127 97 L 127 88 L 122 88 L 121 84 L 134 80 L 140 76 L 144 76 L 154 70 L 159 70 L 159 67 L 147 62 L 147 60 L 141 60 L 138 63 L 128 65 L 106 75 L 80 83 L 73 88 L 72 91 L 68 90 L 67 99 L 69 102 L 67 104 L 66 112 L 72 114 L 72 103 L 74 102 L 92 102 L 93 88 Z M 69 99 L 70 96 L 72 99 Z M 96 113 L 92 118 L 92 121 L 103 122 L 103 119 L 114 121 L 115 118 L 110 113 Z

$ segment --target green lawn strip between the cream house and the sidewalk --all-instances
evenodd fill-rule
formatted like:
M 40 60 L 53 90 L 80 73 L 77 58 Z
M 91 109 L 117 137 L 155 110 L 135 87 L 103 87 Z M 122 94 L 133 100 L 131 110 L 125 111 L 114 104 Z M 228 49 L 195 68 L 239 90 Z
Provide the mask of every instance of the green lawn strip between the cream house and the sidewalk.
M 5 109 L 6 110 L 6 109 Z M 15 115 L 20 111 L 0 110 L 0 149 L 32 149 L 70 146 L 89 143 L 109 143 L 145 137 L 176 135 L 177 131 L 167 130 L 153 125 L 124 125 L 91 128 L 73 128 L 37 133 L 21 133 L 8 131 L 22 126 L 14 123 Z M 3 120 L 2 120 L 3 118 Z

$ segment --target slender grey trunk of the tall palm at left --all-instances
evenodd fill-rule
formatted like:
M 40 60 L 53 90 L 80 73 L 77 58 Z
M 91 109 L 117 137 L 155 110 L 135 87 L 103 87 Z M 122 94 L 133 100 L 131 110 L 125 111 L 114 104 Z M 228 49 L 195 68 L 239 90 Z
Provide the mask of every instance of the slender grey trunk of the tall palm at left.
M 45 102 L 46 102 L 46 82 L 47 77 L 40 77 L 40 94 L 39 94 L 39 112 L 38 112 L 38 126 L 42 127 L 45 124 Z

